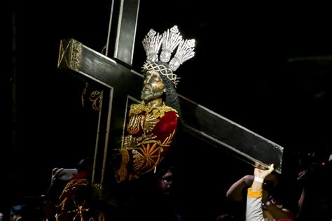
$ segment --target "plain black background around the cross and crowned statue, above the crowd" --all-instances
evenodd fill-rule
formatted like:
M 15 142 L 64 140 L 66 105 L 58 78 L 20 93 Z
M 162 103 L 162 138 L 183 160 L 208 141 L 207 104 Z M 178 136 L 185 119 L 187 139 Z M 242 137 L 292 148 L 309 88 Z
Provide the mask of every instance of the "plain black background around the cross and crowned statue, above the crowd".
M 1 162 L 10 159 L 1 164 L 6 180 L 1 191 L 9 194 L 1 197 L 2 211 L 43 194 L 53 167 L 73 167 L 93 151 L 95 122 L 81 106 L 84 83 L 57 71 L 57 55 L 62 38 L 102 52 L 110 7 L 102 0 L 12 1 L 1 15 L 6 52 Z M 318 3 L 141 1 L 132 66 L 141 69 L 146 58 L 141 40 L 149 29 L 162 32 L 177 24 L 184 38 L 196 40 L 195 57 L 177 71 L 179 94 L 284 146 L 289 164 L 296 164 L 298 152 L 316 152 L 323 161 L 331 151 L 331 58 L 315 59 L 332 54 L 332 15 L 326 10 Z M 301 57 L 307 60 L 293 62 Z M 188 141 L 183 152 L 187 204 L 213 220 L 221 203 L 208 197 L 223 201 L 230 183 L 252 168 L 205 143 Z M 294 169 L 287 165 L 285 171 Z

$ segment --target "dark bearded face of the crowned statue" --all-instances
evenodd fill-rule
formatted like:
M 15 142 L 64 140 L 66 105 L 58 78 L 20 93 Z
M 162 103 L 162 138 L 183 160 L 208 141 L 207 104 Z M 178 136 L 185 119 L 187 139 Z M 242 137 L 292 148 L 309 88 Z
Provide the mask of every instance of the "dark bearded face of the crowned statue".
M 144 101 L 158 99 L 164 91 L 165 85 L 159 73 L 153 70 L 146 72 L 144 87 L 141 90 L 141 99 Z

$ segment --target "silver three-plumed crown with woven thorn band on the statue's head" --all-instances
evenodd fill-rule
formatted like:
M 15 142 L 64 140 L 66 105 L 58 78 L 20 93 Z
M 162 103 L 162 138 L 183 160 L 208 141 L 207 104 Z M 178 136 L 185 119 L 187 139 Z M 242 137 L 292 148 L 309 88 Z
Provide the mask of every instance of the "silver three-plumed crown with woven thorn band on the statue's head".
M 177 25 L 174 25 L 171 29 L 164 31 L 162 35 L 151 29 L 142 43 L 146 51 L 146 62 L 143 69 L 158 71 L 172 80 L 174 85 L 177 85 L 179 78 L 173 71 L 176 71 L 181 64 L 194 57 L 195 40 L 182 39 Z M 160 47 L 162 50 L 158 59 Z M 175 48 L 177 48 L 177 51 L 172 57 Z

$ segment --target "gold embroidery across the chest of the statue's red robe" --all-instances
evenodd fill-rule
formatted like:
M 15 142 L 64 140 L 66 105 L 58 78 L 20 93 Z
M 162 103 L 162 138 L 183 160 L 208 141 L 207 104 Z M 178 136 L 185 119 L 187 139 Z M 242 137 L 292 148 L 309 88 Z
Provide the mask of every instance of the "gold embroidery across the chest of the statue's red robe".
M 116 179 L 120 183 L 123 180 L 138 178 L 144 173 L 152 171 L 164 157 L 164 148 L 170 146 L 176 129 L 168 134 L 164 141 L 158 141 L 153 131 L 161 117 L 165 113 L 177 110 L 169 106 L 155 107 L 141 104 L 130 106 L 129 120 L 127 122 L 127 135 L 123 137 L 123 145 L 120 149 L 122 162 L 120 169 L 116 171 Z M 179 117 L 179 116 L 178 116 Z M 130 159 L 131 158 L 131 159 Z M 127 167 L 133 173 L 127 171 Z

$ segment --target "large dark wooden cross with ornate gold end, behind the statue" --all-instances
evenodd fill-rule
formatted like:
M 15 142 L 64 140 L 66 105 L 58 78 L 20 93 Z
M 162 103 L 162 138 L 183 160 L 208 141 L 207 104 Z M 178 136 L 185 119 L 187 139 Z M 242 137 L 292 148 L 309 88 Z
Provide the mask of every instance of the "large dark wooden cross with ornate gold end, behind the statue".
M 99 117 L 102 120 L 99 120 L 97 131 L 95 159 L 99 160 L 95 160 L 92 179 L 94 183 L 104 182 L 109 148 L 120 146 L 127 104 L 139 101 L 139 85 L 143 85 L 141 73 L 132 69 L 139 1 L 121 1 L 117 11 L 118 20 L 115 23 L 118 31 L 116 44 L 112 48 L 115 51 L 113 58 L 102 55 L 74 39 L 64 39 L 60 43 L 59 69 L 69 70 L 75 76 L 95 81 L 106 89 Z M 107 50 L 109 47 L 108 45 Z M 181 94 L 179 97 L 186 133 L 214 147 L 230 150 L 233 155 L 249 164 L 266 167 L 274 163 L 275 170 L 282 172 L 282 146 Z

